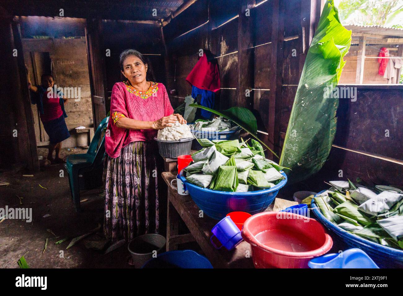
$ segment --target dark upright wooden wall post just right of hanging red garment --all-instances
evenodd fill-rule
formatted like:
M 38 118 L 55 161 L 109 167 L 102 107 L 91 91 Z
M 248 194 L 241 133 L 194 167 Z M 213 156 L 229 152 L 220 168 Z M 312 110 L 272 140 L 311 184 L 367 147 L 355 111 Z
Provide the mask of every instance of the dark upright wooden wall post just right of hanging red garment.
M 238 19 L 238 91 L 236 102 L 231 106 L 253 108 L 253 18 L 255 1 L 241 0 Z M 248 10 L 247 10 L 248 9 Z M 249 91 L 247 91 L 249 90 Z

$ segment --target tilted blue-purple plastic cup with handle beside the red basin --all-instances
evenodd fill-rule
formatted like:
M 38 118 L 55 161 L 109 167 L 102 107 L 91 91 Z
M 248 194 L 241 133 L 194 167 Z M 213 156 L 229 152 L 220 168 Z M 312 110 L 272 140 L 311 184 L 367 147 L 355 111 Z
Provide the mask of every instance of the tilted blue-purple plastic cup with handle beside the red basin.
M 211 232 L 213 235 L 210 238 L 210 242 L 216 249 L 220 249 L 224 246 L 230 251 L 242 241 L 241 230 L 239 230 L 238 226 L 235 225 L 229 216 L 222 218 L 220 222 L 213 227 Z M 214 236 L 220 241 L 221 246 L 217 246 L 213 242 Z

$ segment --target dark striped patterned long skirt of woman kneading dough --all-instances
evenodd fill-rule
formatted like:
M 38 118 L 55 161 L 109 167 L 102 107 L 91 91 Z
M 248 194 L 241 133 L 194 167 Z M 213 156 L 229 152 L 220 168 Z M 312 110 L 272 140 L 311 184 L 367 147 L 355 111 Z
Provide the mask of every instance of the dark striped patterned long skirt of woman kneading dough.
M 159 233 L 158 178 L 163 167 L 156 142 L 136 141 L 106 157 L 104 232 L 112 241 Z

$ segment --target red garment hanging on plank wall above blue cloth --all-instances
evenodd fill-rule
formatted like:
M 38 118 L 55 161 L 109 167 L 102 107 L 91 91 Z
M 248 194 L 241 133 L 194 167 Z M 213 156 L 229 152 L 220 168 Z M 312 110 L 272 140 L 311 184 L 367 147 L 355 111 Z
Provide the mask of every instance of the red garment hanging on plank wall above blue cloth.
M 186 80 L 199 89 L 214 92 L 220 89 L 220 74 L 217 64 L 209 62 L 206 54 L 199 58 Z

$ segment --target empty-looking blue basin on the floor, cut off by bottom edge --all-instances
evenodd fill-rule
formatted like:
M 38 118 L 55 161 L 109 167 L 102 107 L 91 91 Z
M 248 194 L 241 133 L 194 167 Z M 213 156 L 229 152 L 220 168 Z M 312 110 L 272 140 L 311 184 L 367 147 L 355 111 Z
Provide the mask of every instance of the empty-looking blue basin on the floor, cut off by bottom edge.
M 192 250 L 169 251 L 147 261 L 142 268 L 213 268 L 210 261 Z

